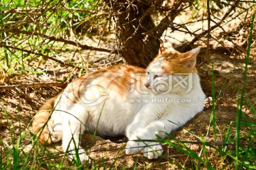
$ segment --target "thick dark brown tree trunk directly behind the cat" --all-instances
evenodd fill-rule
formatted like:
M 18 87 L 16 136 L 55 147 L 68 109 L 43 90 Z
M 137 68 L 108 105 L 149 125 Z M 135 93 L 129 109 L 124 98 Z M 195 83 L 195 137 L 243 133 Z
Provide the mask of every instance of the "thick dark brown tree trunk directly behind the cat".
M 107 3 L 114 13 L 119 54 L 127 64 L 145 68 L 156 57 L 160 46 L 160 37 L 148 34 L 156 28 L 150 16 L 154 11 L 152 2 L 110 0 Z M 161 0 L 156 4 L 161 6 Z

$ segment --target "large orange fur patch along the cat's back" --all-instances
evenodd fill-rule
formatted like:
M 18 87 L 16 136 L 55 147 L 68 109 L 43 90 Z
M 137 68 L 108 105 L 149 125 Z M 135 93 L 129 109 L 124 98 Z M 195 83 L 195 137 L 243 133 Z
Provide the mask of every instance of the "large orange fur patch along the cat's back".
M 116 65 L 100 69 L 96 72 L 91 72 L 85 76 L 75 79 L 75 81 L 68 84 L 68 98 L 76 103 L 78 98 L 84 97 L 85 91 L 90 86 L 100 85 L 95 87 L 98 91 L 112 91 L 115 94 L 126 97 L 131 88 L 133 80 L 133 74 L 145 74 L 145 69 L 134 67 L 130 65 Z M 143 80 L 142 84 L 143 84 Z

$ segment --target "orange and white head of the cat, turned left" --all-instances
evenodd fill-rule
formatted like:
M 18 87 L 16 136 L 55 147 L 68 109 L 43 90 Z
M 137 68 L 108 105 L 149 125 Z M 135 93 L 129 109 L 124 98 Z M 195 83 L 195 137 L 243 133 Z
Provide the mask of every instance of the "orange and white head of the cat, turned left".
M 189 52 L 180 53 L 176 50 L 166 50 L 157 56 L 146 68 L 144 86 L 157 94 L 184 94 L 190 89 L 189 81 L 196 72 L 196 56 L 201 47 Z

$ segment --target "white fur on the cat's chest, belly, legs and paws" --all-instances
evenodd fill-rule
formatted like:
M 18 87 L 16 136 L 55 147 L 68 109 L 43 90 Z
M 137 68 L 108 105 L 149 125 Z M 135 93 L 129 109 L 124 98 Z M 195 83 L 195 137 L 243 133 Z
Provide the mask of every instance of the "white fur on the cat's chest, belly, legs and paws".
M 157 66 L 159 67 L 159 63 L 156 63 Z M 146 71 L 149 74 L 146 74 L 145 79 L 151 83 L 151 74 L 153 71 L 160 72 L 160 69 L 151 65 Z M 104 100 L 95 105 L 82 102 L 82 99 L 78 103 L 71 103 L 66 95 L 68 93 L 66 89 L 55 101 L 56 111 L 53 112 L 48 123 L 48 126 L 51 125 L 49 129 L 52 140 L 57 142 L 62 137 L 63 150 L 70 159 L 75 158 L 75 147 L 79 148 L 80 160 L 85 162 L 89 158 L 85 154 L 85 149 L 79 147 L 80 134 L 84 131 L 95 132 L 97 127 L 97 134 L 101 136 L 126 135 L 129 138 L 126 154 L 143 152 L 145 157 L 156 159 L 162 154 L 159 143 L 134 140 L 156 140 L 155 133 L 160 137 L 166 137 L 164 132 L 170 133 L 179 128 L 203 110 L 206 97 L 201 89 L 198 74 L 192 73 L 192 76 L 192 89 L 186 93 L 178 89 L 181 87 L 164 94 L 154 93 L 145 87 L 135 88 L 127 97 L 118 95 L 115 91 L 107 91 Z M 89 95 L 90 91 L 85 91 L 85 94 Z M 102 95 L 102 91 L 95 90 L 93 97 Z M 165 102 L 166 98 L 173 101 Z M 144 99 L 147 102 L 139 102 Z M 191 102 L 178 102 L 186 99 Z

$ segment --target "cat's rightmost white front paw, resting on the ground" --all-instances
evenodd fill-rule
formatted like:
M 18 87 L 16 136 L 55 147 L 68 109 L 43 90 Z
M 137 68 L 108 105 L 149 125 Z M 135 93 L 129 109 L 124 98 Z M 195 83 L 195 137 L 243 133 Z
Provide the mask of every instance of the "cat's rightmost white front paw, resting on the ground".
M 149 159 L 156 159 L 163 153 L 163 148 L 157 142 L 149 142 L 147 143 L 147 147 L 143 149 L 144 157 Z

